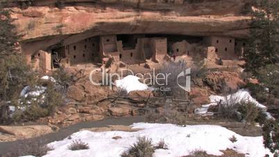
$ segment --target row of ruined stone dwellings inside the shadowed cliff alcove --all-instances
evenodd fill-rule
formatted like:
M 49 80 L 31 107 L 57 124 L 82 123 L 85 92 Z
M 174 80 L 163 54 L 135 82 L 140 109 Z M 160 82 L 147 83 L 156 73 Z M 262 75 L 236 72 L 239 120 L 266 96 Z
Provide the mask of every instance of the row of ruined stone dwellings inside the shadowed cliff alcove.
M 242 56 L 244 47 L 244 41 L 222 36 L 119 34 L 93 36 L 62 46 L 53 45 L 26 56 L 35 69 L 48 72 L 60 65 L 103 65 L 109 58 L 127 65 L 146 63 L 146 60 L 162 63 L 166 56 L 199 55 L 212 62 L 218 58 L 232 60 Z

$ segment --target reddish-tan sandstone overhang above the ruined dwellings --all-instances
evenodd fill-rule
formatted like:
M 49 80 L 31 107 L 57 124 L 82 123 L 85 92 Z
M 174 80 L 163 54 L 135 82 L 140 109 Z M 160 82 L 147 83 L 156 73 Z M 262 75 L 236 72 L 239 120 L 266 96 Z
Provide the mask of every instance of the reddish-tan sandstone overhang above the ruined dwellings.
M 242 15 L 246 0 L 166 3 L 151 1 L 34 1 L 35 6 L 12 8 L 17 32 L 26 53 L 54 44 L 71 44 L 94 35 L 165 33 L 226 35 L 245 38 L 250 17 Z M 67 2 L 67 1 L 66 1 Z M 36 6 L 37 5 L 37 6 Z

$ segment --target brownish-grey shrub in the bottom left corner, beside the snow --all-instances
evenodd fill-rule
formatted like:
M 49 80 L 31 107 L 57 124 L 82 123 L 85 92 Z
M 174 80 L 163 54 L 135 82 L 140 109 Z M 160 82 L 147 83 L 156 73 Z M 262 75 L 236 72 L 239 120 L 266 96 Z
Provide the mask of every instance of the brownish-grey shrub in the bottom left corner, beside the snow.
M 14 144 L 12 151 L 5 156 L 44 156 L 47 151 L 53 150 L 52 147 L 47 146 L 45 140 L 42 138 L 27 139 Z

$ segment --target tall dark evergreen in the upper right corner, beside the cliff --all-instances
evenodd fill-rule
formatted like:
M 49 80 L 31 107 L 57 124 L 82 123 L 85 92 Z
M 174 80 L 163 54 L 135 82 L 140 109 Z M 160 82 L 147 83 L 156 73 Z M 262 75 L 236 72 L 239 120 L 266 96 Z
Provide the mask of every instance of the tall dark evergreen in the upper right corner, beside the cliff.
M 279 1 L 255 0 L 251 10 L 252 22 L 249 46 L 244 53 L 246 70 L 279 62 Z

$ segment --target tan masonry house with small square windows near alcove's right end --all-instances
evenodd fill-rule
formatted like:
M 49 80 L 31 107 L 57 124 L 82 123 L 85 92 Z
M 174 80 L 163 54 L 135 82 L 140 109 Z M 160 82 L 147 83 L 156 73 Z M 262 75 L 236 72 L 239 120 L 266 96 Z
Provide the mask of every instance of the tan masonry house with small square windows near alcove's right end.
M 206 37 L 203 39 L 208 47 L 215 47 L 215 52 L 222 59 L 231 59 L 235 56 L 235 39 L 226 37 Z

